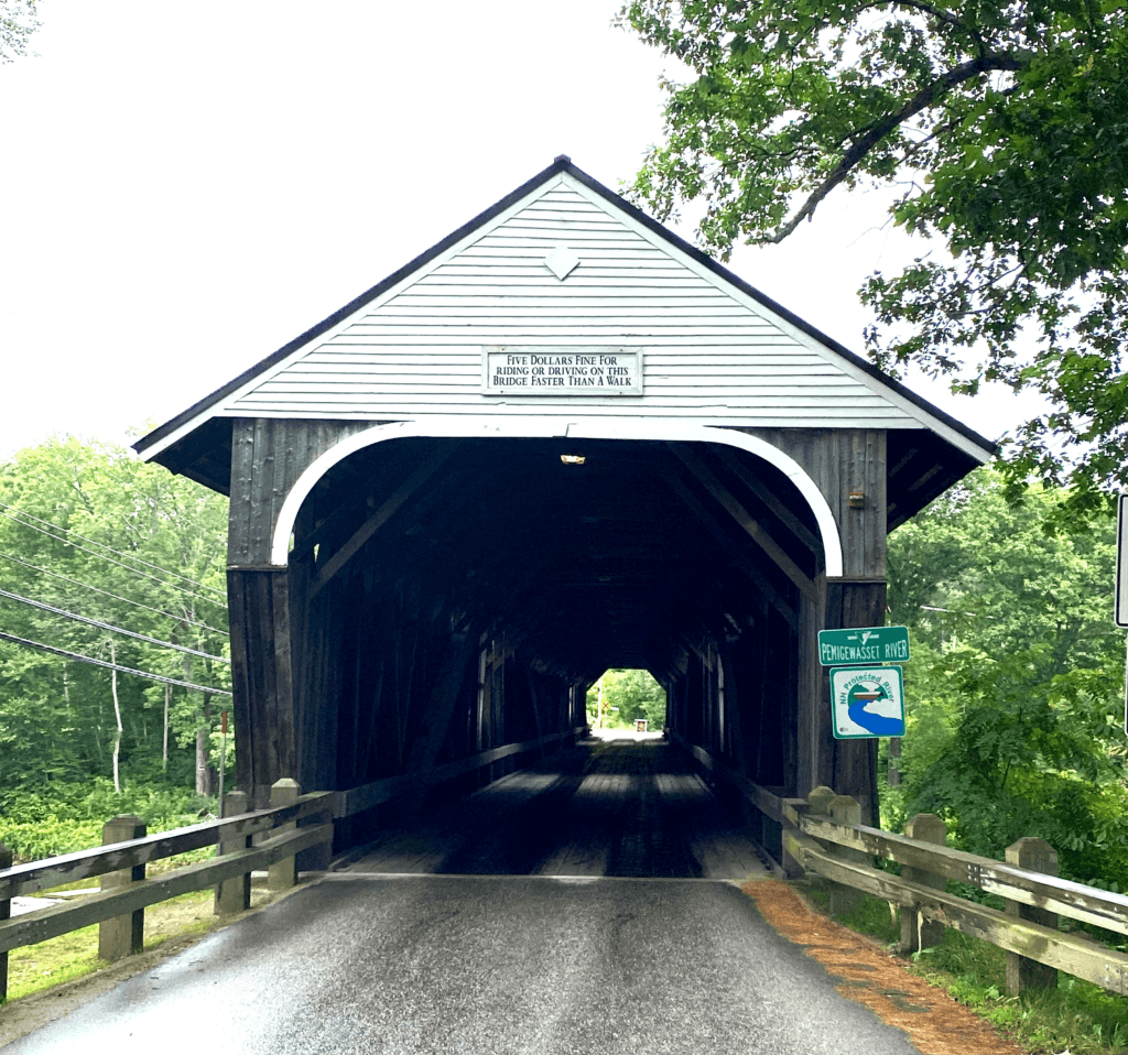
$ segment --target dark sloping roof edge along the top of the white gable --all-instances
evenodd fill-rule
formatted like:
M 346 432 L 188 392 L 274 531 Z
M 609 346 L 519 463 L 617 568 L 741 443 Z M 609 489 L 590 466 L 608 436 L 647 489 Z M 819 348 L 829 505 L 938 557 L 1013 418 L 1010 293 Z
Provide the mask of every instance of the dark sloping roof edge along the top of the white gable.
M 266 358 L 255 363 L 253 366 L 248 367 L 241 374 L 235 378 L 235 380 L 229 381 L 221 388 L 215 389 L 214 392 L 212 392 L 210 396 L 205 396 L 199 402 L 193 404 L 193 406 L 188 407 L 187 410 L 182 411 L 176 417 L 166 422 L 164 425 L 160 425 L 159 427 L 155 428 L 148 435 L 142 436 L 140 440 L 136 441 L 136 443 L 133 444 L 133 450 L 136 451 L 139 454 L 141 454 L 144 451 L 147 451 L 150 446 L 153 446 L 155 444 L 159 443 L 166 436 L 176 432 L 178 428 L 186 425 L 193 418 L 199 417 L 210 407 L 213 407 L 215 404 L 220 402 L 222 399 L 227 398 L 232 392 L 240 389 L 244 384 L 246 384 L 257 374 L 262 373 L 264 370 L 268 370 L 271 366 L 275 365 L 276 363 L 285 358 L 292 352 L 296 352 L 302 345 L 319 337 L 321 334 L 326 333 L 326 330 L 332 329 L 338 322 L 343 321 L 354 311 L 358 311 L 365 304 L 376 300 L 378 296 L 387 292 L 397 283 L 403 282 L 403 280 L 408 277 L 413 272 L 418 271 L 421 267 L 424 267 L 435 257 L 446 252 L 451 246 L 457 245 L 468 234 L 473 234 L 474 231 L 476 231 L 478 228 L 484 227 L 496 215 L 503 213 L 511 205 L 519 202 L 526 195 L 532 193 L 538 186 L 546 183 L 553 176 L 556 176 L 559 172 L 567 172 L 575 180 L 588 187 L 588 189 L 592 190 L 594 194 L 598 194 L 600 197 L 602 197 L 611 205 L 615 205 L 617 209 L 620 209 L 623 212 L 627 213 L 632 219 L 636 220 L 647 230 L 652 231 L 654 234 L 670 242 L 670 245 L 677 247 L 681 252 L 685 252 L 686 255 L 690 256 L 703 267 L 706 267 L 708 271 L 713 272 L 713 274 L 715 274 L 717 277 L 723 278 L 725 282 L 735 286 L 742 293 L 752 298 L 755 301 L 763 304 L 765 308 L 769 309 L 770 311 L 786 319 L 796 329 L 800 329 L 808 336 L 813 337 L 820 344 L 825 345 L 826 347 L 835 352 L 837 355 L 840 355 L 843 358 L 852 363 L 854 366 L 864 371 L 875 381 L 880 381 L 882 384 L 892 389 L 904 399 L 907 399 L 909 402 L 919 407 L 922 410 L 925 410 L 933 417 L 941 420 L 949 428 L 953 429 L 961 436 L 966 437 L 967 440 L 970 440 L 978 446 L 982 447 L 985 452 L 988 452 L 993 455 L 997 453 L 998 444 L 993 443 L 990 440 L 987 440 L 986 437 L 979 435 L 979 433 L 977 433 L 973 428 L 970 428 L 969 426 L 964 425 L 962 422 L 952 417 L 946 411 L 941 410 L 938 407 L 933 406 L 931 402 L 928 402 L 928 400 L 924 399 L 922 396 L 918 396 L 916 392 L 911 391 L 911 389 L 908 389 L 904 384 L 901 384 L 900 381 L 890 378 L 888 374 L 880 371 L 872 363 L 862 358 L 862 356 L 851 352 L 849 348 L 839 344 L 834 338 L 828 337 L 826 334 L 823 334 L 817 327 L 812 326 L 810 322 L 807 322 L 805 320 L 801 319 L 794 312 L 788 311 L 782 304 L 776 303 L 776 301 L 772 300 L 770 296 L 767 296 L 766 294 L 761 293 L 755 286 L 749 285 L 739 275 L 729 271 L 729 268 L 719 264 L 716 260 L 714 260 L 706 254 L 702 252 L 700 249 L 690 245 L 680 236 L 675 234 L 672 231 L 668 230 L 652 216 L 647 216 L 646 213 L 644 213 L 641 209 L 637 209 L 636 206 L 632 205 L 628 201 L 626 201 L 626 198 L 616 194 L 609 187 L 605 187 L 598 179 L 594 179 L 593 177 L 589 176 L 585 171 L 583 171 L 583 169 L 576 168 L 576 166 L 572 163 L 572 159 L 569 158 L 566 154 L 557 156 L 552 165 L 549 165 L 543 171 L 538 172 L 531 179 L 521 184 L 521 186 L 519 186 L 515 190 L 511 192 L 510 194 L 506 194 L 505 197 L 501 198 L 499 202 L 495 202 L 484 212 L 478 213 L 478 215 L 475 216 L 473 220 L 470 220 L 467 223 L 464 223 L 456 231 L 452 231 L 441 241 L 437 242 L 430 249 L 420 254 L 413 260 L 408 261 L 403 267 L 400 267 L 398 271 L 393 272 L 393 274 L 388 275 L 388 277 L 385 278 L 382 282 L 377 283 L 367 292 L 361 293 L 360 296 L 354 298 L 343 308 L 337 309 L 337 311 L 333 312 L 333 314 L 331 314 L 328 318 L 323 319 L 316 326 L 310 327 L 303 334 L 291 340 L 289 344 L 283 345 L 281 348 L 277 349 L 277 352 L 274 352 L 271 355 L 266 356 Z

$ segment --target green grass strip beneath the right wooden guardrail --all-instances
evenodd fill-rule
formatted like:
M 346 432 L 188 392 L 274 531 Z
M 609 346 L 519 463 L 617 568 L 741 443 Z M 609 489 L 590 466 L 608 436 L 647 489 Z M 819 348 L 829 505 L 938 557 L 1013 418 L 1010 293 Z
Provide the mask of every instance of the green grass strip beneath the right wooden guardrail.
M 823 912 L 828 895 L 818 887 L 810 899 Z M 900 923 L 889 905 L 866 896 L 861 906 L 839 923 L 893 946 Z M 944 930 L 943 943 L 915 954 L 908 969 L 971 1008 L 1023 1050 L 1068 1052 L 1070 1055 L 1125 1055 L 1128 1053 L 1128 996 L 1064 973 L 1056 990 L 1006 994 L 1006 952 L 996 946 L 954 930 Z

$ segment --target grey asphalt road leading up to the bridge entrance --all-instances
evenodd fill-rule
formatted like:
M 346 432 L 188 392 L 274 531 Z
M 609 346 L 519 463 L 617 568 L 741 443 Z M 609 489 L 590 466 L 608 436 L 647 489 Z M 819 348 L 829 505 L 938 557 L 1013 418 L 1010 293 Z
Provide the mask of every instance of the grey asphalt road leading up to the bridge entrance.
M 2 1012 L 0 1012 L 2 1013 Z M 5 1048 L 909 1055 L 732 884 L 337 875 Z

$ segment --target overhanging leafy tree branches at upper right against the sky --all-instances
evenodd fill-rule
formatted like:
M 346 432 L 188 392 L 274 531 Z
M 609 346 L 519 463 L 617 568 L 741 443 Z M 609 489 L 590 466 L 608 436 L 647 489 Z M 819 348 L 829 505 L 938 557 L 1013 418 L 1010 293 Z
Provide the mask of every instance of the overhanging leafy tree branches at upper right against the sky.
M 698 238 L 778 242 L 836 188 L 897 186 L 933 245 L 861 294 L 871 355 L 955 391 L 1041 392 L 1012 487 L 1128 485 L 1128 12 L 1118 0 L 629 0 L 620 21 L 695 74 L 629 193 Z M 1031 351 L 1023 352 L 1024 347 Z

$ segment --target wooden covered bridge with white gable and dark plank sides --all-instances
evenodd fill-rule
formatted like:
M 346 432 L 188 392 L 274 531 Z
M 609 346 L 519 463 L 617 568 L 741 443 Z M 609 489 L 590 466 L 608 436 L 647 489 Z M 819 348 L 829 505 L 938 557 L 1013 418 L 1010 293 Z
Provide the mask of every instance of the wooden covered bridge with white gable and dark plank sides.
M 135 446 L 230 496 L 258 804 L 566 741 L 608 667 L 870 804 L 817 632 L 883 622 L 887 533 L 994 451 L 563 157 Z

